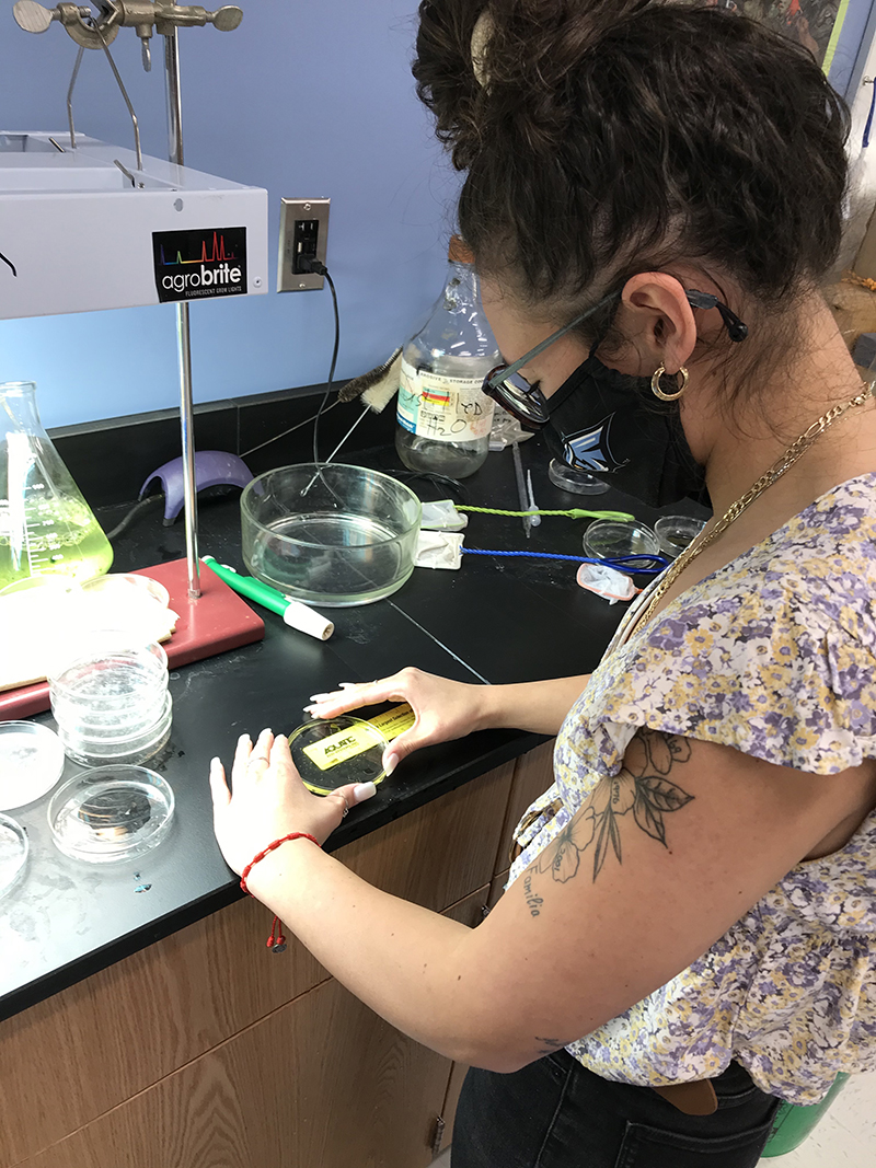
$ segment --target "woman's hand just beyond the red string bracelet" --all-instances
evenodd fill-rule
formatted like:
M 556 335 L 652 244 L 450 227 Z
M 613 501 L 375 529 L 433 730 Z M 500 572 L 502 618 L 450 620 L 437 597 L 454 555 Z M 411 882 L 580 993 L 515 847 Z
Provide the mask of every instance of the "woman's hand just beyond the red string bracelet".
M 218 758 L 210 763 L 213 826 L 225 862 L 238 875 L 273 840 L 306 832 L 325 842 L 350 807 L 375 792 L 373 783 L 339 787 L 314 795 L 301 781 L 287 739 L 263 730 L 253 745 L 249 735 L 237 741 L 228 790 Z

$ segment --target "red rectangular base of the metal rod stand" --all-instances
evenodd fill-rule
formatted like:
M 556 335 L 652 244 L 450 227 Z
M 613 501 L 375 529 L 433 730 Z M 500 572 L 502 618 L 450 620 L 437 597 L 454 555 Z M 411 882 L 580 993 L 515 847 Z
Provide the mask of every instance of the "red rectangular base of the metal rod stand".
M 171 607 L 179 614 L 176 630 L 165 642 L 172 669 L 192 661 L 202 661 L 228 649 L 260 641 L 265 625 L 246 602 L 209 568 L 201 564 L 201 596 L 188 595 L 188 565 L 185 559 L 138 568 L 138 576 L 148 576 L 164 584 L 171 593 Z M 21 686 L 0 694 L 0 722 L 26 718 L 49 709 L 49 684 Z

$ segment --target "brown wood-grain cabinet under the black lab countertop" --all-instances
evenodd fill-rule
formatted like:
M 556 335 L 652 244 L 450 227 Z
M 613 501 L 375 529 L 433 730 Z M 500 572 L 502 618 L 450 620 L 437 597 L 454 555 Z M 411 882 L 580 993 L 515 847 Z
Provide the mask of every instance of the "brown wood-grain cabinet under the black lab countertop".
M 475 925 L 537 753 L 340 857 Z M 425 1168 L 461 1071 L 266 926 L 241 901 L 0 1023 L 1 1168 Z

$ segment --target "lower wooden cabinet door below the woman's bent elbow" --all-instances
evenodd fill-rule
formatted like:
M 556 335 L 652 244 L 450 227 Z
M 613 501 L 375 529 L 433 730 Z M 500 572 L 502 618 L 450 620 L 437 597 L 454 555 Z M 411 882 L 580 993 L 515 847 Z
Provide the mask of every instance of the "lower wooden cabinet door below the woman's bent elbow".
M 18 1168 L 425 1168 L 450 1072 L 332 980 Z

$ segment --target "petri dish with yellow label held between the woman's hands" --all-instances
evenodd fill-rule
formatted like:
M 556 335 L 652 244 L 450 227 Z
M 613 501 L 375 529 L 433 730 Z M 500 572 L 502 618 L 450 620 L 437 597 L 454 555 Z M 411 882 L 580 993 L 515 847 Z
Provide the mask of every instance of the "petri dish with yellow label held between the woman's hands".
M 318 795 L 348 783 L 381 783 L 389 739 L 371 722 L 342 714 L 305 722 L 288 736 L 292 762 L 304 785 Z

